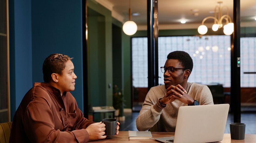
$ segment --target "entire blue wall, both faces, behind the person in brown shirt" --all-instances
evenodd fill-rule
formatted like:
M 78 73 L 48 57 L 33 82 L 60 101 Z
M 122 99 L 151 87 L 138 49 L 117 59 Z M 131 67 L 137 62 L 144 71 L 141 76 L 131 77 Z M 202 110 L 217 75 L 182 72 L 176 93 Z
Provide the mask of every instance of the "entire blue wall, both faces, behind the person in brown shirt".
M 44 59 L 73 57 L 77 75 L 71 92 L 83 112 L 82 1 L 9 0 L 11 120 L 34 82 L 43 82 Z

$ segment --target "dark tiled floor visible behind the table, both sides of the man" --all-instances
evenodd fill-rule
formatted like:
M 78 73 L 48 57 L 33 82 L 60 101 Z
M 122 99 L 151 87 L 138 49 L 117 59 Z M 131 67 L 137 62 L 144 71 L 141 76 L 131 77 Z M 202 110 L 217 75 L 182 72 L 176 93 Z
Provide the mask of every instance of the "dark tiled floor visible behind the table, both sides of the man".
M 139 112 L 125 113 L 125 121 L 120 122 L 120 131 L 138 131 L 136 128 L 136 118 Z M 233 123 L 233 115 L 227 117 L 225 133 L 230 133 L 229 123 Z M 256 134 L 256 112 L 241 113 L 241 123 L 245 123 L 245 134 Z

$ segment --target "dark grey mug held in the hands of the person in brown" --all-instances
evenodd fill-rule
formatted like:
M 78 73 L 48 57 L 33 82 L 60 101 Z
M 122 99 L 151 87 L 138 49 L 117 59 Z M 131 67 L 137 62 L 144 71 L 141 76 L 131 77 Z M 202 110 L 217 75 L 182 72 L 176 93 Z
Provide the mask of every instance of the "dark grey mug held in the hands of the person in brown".
M 106 125 L 105 135 L 114 136 L 116 134 L 117 119 L 107 118 L 103 119 L 102 122 Z

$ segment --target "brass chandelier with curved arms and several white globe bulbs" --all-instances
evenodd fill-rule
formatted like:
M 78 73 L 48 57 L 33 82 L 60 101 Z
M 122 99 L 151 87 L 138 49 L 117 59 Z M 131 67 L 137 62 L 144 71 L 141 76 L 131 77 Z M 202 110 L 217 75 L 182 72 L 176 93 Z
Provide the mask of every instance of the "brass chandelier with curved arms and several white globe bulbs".
M 213 16 L 208 16 L 205 17 L 202 21 L 202 25 L 200 25 L 198 27 L 198 32 L 201 35 L 204 35 L 207 33 L 207 27 L 204 25 L 204 22 L 207 19 L 214 19 L 214 24 L 212 25 L 212 30 L 213 31 L 217 31 L 219 28 L 222 28 L 223 24 L 222 21 L 225 20 L 226 24 L 223 27 L 223 32 L 225 35 L 231 35 L 234 32 L 234 23 L 231 20 L 231 17 L 229 16 L 229 8 L 227 6 L 223 6 L 227 8 L 227 14 L 222 15 L 222 9 L 223 7 L 221 7 L 222 2 L 218 2 L 219 6 L 215 7 L 214 10 L 214 17 Z M 217 9 L 218 9 L 218 14 L 217 14 Z

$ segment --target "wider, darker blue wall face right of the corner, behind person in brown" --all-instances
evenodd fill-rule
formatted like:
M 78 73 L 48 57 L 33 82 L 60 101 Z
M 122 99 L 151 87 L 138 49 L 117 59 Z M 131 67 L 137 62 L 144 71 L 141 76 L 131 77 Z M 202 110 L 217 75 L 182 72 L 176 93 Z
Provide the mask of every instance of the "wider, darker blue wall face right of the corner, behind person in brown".
M 32 1 L 33 82 L 43 82 L 44 59 L 53 53 L 73 57 L 77 75 L 72 95 L 83 112 L 82 1 Z

